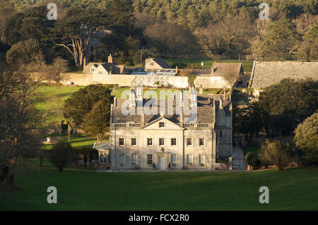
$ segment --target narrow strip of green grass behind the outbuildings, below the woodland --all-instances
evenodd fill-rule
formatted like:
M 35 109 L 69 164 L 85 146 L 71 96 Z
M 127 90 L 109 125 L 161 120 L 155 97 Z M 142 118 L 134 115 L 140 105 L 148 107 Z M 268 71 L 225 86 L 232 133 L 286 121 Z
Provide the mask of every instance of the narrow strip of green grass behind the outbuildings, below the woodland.
M 200 63 L 204 62 L 204 68 L 211 68 L 212 62 L 217 63 L 238 63 L 238 60 L 211 60 L 211 59 L 165 59 L 168 63 Z M 242 66 L 245 72 L 252 72 L 253 61 L 242 61 Z

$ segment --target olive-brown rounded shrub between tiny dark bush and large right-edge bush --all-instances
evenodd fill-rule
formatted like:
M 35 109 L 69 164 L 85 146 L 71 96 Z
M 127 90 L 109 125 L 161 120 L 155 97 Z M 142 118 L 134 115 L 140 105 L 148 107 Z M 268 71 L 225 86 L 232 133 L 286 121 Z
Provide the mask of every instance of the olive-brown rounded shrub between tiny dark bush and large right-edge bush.
M 294 154 L 289 144 L 283 144 L 281 141 L 271 142 L 269 139 L 263 142 L 259 152 L 262 164 L 276 165 L 281 171 L 292 162 L 293 157 Z

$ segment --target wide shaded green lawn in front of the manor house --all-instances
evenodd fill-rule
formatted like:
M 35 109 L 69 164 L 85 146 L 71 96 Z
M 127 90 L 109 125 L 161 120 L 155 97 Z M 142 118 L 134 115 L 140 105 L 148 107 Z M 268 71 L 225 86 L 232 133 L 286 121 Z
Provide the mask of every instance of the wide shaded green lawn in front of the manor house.
M 318 168 L 240 173 L 30 169 L 7 191 L 15 210 L 317 210 Z M 47 188 L 57 187 L 57 204 Z M 269 187 L 269 204 L 259 188 Z M 6 209 L 0 201 L 0 209 Z

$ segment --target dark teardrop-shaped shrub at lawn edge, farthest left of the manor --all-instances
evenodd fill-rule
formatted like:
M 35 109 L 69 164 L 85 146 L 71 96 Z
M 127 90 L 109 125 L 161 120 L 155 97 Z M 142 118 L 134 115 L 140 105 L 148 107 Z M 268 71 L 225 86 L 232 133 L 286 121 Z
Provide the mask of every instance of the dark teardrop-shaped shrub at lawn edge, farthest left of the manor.
M 57 142 L 49 151 L 49 159 L 60 172 L 63 171 L 73 159 L 73 149 L 69 142 Z

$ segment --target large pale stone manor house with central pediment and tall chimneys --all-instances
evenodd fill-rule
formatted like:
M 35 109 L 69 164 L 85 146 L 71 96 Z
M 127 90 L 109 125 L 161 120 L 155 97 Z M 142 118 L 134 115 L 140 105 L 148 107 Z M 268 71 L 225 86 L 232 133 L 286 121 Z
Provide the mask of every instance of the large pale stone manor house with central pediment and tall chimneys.
M 226 95 L 189 95 L 177 91 L 170 99 L 143 98 L 143 87 L 116 99 L 111 107 L 110 142 L 96 147 L 100 165 L 110 169 L 218 169 L 216 159 L 232 156 L 232 103 Z M 165 104 L 165 110 L 160 106 Z M 179 107 L 181 106 L 181 107 Z M 148 114 L 145 107 L 158 107 Z M 196 109 L 194 116 L 184 108 Z M 178 110 L 178 109 L 182 110 Z M 128 115 L 122 109 L 130 111 Z

